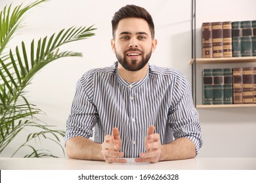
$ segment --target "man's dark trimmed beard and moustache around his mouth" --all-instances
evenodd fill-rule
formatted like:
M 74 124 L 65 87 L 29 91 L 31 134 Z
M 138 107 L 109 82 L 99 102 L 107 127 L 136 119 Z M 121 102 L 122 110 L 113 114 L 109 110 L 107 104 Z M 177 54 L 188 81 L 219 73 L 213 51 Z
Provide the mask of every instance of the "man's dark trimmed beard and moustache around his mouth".
M 139 51 L 141 60 L 139 59 L 131 59 L 130 61 L 127 61 L 127 52 L 130 51 Z M 151 57 L 152 52 L 150 51 L 146 56 L 144 56 L 144 52 L 142 50 L 139 50 L 138 48 L 131 48 L 123 53 L 123 56 L 120 54 L 117 54 L 116 52 L 116 58 L 118 63 L 121 64 L 123 68 L 125 68 L 127 71 L 139 71 L 142 69 L 149 61 Z

